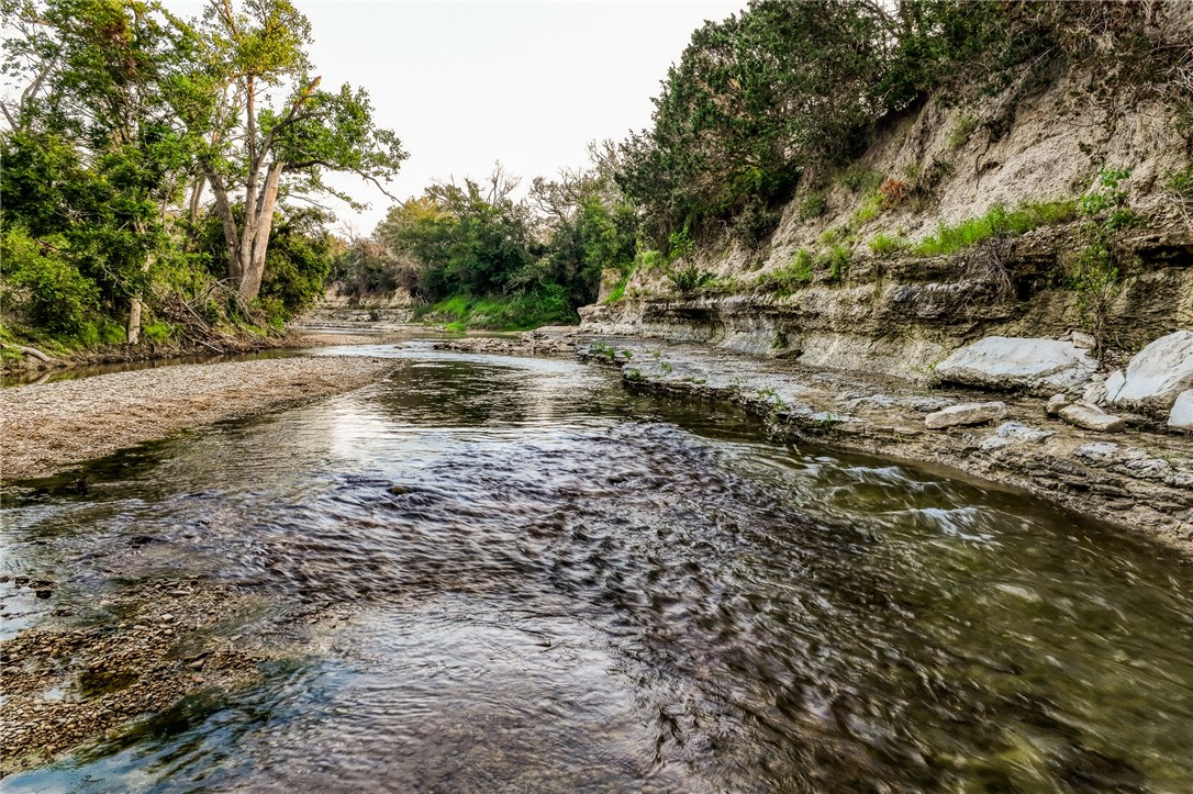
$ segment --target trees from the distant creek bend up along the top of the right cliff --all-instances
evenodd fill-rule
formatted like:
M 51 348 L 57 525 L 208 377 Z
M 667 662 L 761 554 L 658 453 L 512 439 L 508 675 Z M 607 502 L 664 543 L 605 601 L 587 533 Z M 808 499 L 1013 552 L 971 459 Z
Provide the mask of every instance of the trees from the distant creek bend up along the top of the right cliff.
M 336 277 L 429 303 L 460 292 L 549 303 L 554 318 L 591 303 L 602 272 L 624 284 L 656 268 L 690 290 L 711 278 L 690 261 L 697 244 L 759 246 L 797 187 L 823 185 L 929 97 L 959 105 L 1019 92 L 1002 101 L 1013 113 L 1073 64 L 1096 67 L 1092 91 L 1169 92 L 1189 136 L 1193 100 L 1180 86 L 1193 51 L 1160 35 L 1162 5 L 754 0 L 692 35 L 650 126 L 592 145 L 587 169 L 536 179 L 521 200 L 500 170 L 488 184 L 432 186 L 356 241 Z M 989 128 L 996 139 L 1009 118 Z

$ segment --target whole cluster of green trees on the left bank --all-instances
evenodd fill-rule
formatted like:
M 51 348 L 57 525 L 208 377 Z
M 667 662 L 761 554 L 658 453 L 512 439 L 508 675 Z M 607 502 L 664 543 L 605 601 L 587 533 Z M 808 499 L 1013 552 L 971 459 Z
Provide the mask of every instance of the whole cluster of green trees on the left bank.
M 193 19 L 155 0 L 0 11 L 5 297 L 47 330 L 136 342 L 146 306 L 282 322 L 330 266 L 329 216 L 309 204 L 334 193 L 323 176 L 385 181 L 406 157 L 364 91 L 321 86 L 289 0 L 211 0 Z

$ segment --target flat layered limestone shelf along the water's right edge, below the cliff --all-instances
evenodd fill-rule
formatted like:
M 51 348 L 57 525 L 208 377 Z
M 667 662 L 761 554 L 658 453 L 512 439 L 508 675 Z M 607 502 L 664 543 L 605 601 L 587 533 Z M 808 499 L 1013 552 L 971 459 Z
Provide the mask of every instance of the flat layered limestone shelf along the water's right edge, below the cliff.
M 489 352 L 488 345 L 459 340 L 450 347 Z M 1125 432 L 1106 433 L 1065 421 L 1056 404 L 1050 412 L 1043 391 L 929 389 L 706 345 L 575 329 L 531 331 L 505 341 L 501 352 L 531 355 L 558 346 L 619 367 L 630 389 L 741 405 L 775 438 L 948 466 L 1193 554 L 1193 438 L 1162 432 L 1154 417 L 1129 414 Z

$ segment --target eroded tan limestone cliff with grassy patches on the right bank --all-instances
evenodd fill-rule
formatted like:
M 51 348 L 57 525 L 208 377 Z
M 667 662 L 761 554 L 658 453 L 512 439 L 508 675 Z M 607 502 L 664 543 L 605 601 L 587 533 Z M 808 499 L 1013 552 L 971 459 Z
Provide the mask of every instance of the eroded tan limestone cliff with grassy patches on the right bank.
M 1193 41 L 1186 11 L 1166 23 L 1169 38 L 1188 29 Z M 635 272 L 625 297 L 581 310 L 583 330 L 926 380 L 982 336 L 1086 328 L 1118 364 L 1193 328 L 1193 219 L 1170 190 L 1174 174 L 1189 173 L 1186 134 L 1163 91 L 1112 89 L 1078 67 L 1025 72 L 969 106 L 935 98 L 889 119 L 835 178 L 802 185 L 760 244 L 705 246 L 673 263 L 706 272 L 701 289 L 678 291 L 663 268 Z M 1130 173 L 1115 190 L 1135 222 L 1109 237 L 1114 278 L 1095 302 L 1074 284 L 1093 215 L 1080 199 L 1096 196 L 1108 170 Z M 914 253 L 941 225 L 1041 203 L 1068 210 L 1026 232 Z

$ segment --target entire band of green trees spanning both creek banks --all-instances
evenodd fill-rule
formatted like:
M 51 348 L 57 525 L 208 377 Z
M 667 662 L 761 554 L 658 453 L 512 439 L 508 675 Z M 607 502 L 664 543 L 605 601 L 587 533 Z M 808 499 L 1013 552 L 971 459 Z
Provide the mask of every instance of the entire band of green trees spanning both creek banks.
M 210 0 L 196 19 L 153 0 L 0 0 L 5 279 L 42 323 L 122 316 L 130 341 L 146 305 L 285 318 L 328 278 L 427 308 L 484 298 L 497 325 L 567 322 L 602 273 L 687 284 L 693 244 L 756 246 L 797 187 L 929 97 L 1027 92 L 1024 75 L 1093 60 L 1092 89 L 1173 91 L 1191 135 L 1193 55 L 1156 35 L 1162 5 L 754 0 L 697 30 L 651 124 L 591 145 L 587 167 L 431 185 L 344 243 L 307 204 L 335 193 L 323 176 L 382 184 L 406 153 L 363 91 L 321 85 L 288 0 Z

